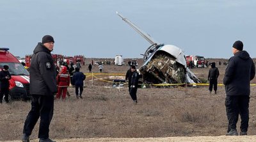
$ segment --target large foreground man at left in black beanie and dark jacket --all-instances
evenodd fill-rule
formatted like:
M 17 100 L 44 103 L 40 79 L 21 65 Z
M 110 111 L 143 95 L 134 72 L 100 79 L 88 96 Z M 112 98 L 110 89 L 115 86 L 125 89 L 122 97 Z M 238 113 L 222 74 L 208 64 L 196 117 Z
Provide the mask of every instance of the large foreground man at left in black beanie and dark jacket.
M 54 39 L 45 35 L 42 43 L 39 42 L 33 51 L 29 67 L 31 111 L 24 123 L 22 142 L 29 142 L 29 136 L 39 117 L 39 142 L 52 142 L 49 139 L 49 125 L 53 115 L 54 93 L 57 92 L 56 69 L 51 56 L 53 47 Z

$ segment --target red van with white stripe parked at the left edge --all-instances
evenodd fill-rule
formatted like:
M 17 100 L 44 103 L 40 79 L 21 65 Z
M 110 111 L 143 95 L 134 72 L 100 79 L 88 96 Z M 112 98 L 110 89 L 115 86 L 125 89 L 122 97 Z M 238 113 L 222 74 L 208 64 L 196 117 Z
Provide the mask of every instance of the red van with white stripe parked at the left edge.
M 12 99 L 30 99 L 29 72 L 8 50 L 8 48 L 0 48 L 0 70 L 3 69 L 4 65 L 8 65 L 10 75 L 12 76 L 12 79 L 9 80 L 10 92 L 8 99 L 9 101 Z

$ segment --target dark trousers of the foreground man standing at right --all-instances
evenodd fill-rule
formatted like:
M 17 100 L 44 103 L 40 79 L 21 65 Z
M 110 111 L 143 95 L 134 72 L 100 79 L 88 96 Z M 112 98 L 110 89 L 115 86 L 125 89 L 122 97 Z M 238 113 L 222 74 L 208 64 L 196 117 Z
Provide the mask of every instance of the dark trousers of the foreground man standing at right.
M 228 118 L 228 132 L 230 129 L 236 129 L 236 123 L 240 114 L 242 132 L 247 132 L 249 122 L 249 102 L 250 97 L 246 95 L 227 96 L 225 100 L 227 118 Z

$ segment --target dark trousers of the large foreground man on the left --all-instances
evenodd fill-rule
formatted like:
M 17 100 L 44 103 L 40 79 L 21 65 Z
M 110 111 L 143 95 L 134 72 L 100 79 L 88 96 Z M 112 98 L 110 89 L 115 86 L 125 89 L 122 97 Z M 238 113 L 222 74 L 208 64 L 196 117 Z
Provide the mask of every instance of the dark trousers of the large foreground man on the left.
M 54 95 L 32 95 L 31 111 L 24 123 L 23 134 L 31 135 L 38 118 L 40 125 L 38 138 L 49 138 L 49 125 L 52 120 Z

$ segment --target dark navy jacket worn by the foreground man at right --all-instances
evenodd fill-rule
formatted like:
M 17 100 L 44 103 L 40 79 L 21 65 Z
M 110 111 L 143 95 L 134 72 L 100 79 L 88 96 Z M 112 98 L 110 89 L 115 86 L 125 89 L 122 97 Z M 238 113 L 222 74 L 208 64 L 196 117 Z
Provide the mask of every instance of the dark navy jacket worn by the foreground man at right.
M 246 51 L 239 51 L 228 61 L 223 84 L 227 95 L 250 95 L 250 81 L 255 76 L 255 65 Z

